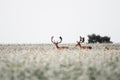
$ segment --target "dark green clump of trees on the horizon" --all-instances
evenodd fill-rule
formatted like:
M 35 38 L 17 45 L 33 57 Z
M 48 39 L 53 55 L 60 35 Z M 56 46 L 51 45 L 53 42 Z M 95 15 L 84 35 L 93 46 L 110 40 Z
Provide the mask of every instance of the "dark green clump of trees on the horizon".
M 91 34 L 88 35 L 88 43 L 111 43 L 111 41 L 108 36 L 101 37 L 100 35 Z

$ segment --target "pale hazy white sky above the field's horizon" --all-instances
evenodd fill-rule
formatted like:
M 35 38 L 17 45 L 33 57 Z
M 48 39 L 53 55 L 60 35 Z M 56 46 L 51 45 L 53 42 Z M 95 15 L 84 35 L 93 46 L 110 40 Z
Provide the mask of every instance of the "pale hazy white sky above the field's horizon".
M 1 43 L 63 43 L 100 34 L 120 42 L 120 0 L 0 0 Z M 86 40 L 87 41 L 87 40 Z

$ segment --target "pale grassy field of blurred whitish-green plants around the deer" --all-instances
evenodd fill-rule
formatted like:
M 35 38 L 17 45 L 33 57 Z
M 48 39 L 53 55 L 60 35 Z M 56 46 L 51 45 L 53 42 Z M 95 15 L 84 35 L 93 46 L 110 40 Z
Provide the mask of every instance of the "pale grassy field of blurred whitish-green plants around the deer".
M 1 44 L 0 80 L 120 80 L 120 44 L 83 44 L 92 50 L 63 45 L 70 48 Z

